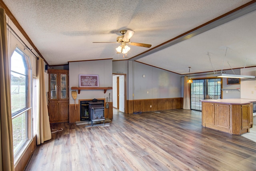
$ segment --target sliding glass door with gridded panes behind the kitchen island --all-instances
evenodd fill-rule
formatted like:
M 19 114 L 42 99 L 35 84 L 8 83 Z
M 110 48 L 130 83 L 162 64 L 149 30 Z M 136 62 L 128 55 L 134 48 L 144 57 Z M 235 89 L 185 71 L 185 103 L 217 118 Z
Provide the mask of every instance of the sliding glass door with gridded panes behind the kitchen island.
M 202 110 L 202 99 L 221 99 L 221 78 L 193 80 L 190 96 L 191 109 Z

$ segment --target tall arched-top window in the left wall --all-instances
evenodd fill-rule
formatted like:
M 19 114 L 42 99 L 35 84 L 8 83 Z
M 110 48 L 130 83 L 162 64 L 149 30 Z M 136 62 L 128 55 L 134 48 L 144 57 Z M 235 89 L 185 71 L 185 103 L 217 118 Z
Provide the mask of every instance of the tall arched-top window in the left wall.
M 31 139 L 31 66 L 28 56 L 16 49 L 11 57 L 11 107 L 14 159 Z

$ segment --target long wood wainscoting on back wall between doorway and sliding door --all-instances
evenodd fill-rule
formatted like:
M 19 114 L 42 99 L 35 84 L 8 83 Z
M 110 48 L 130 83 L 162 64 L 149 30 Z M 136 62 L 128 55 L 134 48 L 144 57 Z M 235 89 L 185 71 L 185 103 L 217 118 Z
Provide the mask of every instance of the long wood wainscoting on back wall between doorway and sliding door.
M 151 107 L 150 107 L 151 105 Z M 127 109 L 125 113 L 133 113 L 136 111 L 158 111 L 166 109 L 180 109 L 183 105 L 183 98 L 164 98 L 164 99 L 139 99 L 127 100 Z

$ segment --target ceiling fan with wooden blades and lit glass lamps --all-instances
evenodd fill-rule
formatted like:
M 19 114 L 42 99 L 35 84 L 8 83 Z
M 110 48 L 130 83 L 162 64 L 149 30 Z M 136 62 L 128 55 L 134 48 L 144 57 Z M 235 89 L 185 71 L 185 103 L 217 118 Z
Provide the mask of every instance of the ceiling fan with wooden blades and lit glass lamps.
M 151 44 L 130 42 L 130 38 L 134 34 L 133 30 L 120 30 L 120 33 L 122 34 L 122 36 L 118 36 L 116 38 L 116 42 L 92 42 L 92 43 L 120 43 L 121 45 L 116 48 L 116 52 L 118 54 L 119 53 L 126 54 L 130 50 L 130 47 L 128 45 L 141 46 L 145 48 L 151 47 Z

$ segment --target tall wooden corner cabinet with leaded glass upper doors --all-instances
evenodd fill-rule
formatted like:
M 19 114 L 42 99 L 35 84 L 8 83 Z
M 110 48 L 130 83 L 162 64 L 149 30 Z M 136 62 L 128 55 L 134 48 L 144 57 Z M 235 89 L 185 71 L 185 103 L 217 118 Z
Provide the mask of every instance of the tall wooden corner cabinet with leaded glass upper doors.
M 48 70 L 50 123 L 68 121 L 68 70 Z

